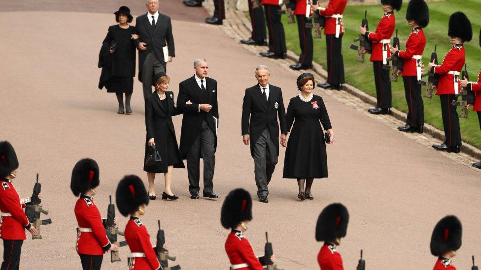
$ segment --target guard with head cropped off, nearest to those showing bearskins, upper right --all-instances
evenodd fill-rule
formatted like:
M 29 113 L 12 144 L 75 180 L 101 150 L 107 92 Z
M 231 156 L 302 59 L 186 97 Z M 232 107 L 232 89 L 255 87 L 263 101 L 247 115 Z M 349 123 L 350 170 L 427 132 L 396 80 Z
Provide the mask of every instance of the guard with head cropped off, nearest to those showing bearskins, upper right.
M 312 9 L 326 17 L 327 82 L 318 83 L 321 88 L 342 90 L 344 84 L 344 59 L 342 54 L 344 23 L 343 13 L 347 0 L 329 0 L 327 8 L 313 5 Z

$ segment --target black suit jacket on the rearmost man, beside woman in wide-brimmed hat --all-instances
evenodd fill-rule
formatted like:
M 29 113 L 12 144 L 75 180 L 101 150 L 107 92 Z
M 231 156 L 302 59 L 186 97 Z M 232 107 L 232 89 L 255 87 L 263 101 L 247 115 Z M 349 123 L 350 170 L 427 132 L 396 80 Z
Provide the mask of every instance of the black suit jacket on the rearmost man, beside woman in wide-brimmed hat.
M 155 22 L 155 30 L 152 31 L 151 24 L 147 15 L 149 13 L 145 13 L 140 15 L 136 19 L 136 28 L 138 31 L 139 37 L 134 40 L 137 48 L 139 42 L 147 43 L 147 50 L 145 51 L 138 51 L 138 80 L 140 81 L 142 78 L 142 66 L 147 54 L 150 51 L 155 53 L 157 59 L 162 63 L 165 62 L 164 59 L 164 52 L 162 50 L 163 47 L 167 45 L 169 49 L 169 56 L 175 57 L 175 46 L 173 44 L 173 35 L 172 35 L 172 24 L 171 18 L 159 12 L 159 17 L 157 18 L 157 22 Z

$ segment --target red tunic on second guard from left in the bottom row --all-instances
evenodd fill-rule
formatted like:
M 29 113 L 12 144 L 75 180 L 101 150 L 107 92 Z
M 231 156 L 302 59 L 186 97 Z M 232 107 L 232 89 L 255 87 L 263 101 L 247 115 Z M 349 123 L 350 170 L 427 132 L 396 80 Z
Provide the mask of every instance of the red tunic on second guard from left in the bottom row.
M 103 255 L 110 248 L 110 241 L 105 234 L 102 216 L 92 197 L 80 195 L 75 204 L 75 217 L 79 228 L 92 230 L 92 232 L 78 232 L 77 253 Z

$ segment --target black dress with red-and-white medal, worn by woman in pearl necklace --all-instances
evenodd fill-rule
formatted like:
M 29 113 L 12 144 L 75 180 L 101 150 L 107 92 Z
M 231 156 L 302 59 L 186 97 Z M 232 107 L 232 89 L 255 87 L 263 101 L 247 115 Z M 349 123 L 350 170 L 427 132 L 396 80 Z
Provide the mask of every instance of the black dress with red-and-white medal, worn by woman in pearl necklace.
M 322 97 L 310 101 L 291 98 L 287 107 L 287 127 L 292 127 L 284 160 L 283 178 L 305 179 L 327 177 L 327 154 L 324 129 L 331 128 Z

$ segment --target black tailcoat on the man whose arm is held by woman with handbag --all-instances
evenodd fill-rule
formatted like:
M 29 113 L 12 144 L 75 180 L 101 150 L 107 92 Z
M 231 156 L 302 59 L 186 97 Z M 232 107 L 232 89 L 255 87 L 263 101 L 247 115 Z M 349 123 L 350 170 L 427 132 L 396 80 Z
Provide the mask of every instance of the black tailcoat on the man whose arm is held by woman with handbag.
M 206 120 L 215 134 L 216 126 L 214 117 L 219 121 L 219 109 L 217 106 L 217 82 L 206 77 L 206 90 L 208 98 L 202 94 L 202 90 L 197 84 L 194 76 L 182 81 L 179 84 L 179 96 L 177 97 L 177 109 L 184 114 L 182 118 L 182 130 L 180 132 L 180 155 L 183 159 L 187 158 L 187 153 L 192 148 L 197 136 L 202 130 L 202 121 Z M 193 104 L 185 104 L 190 100 Z M 205 113 L 199 112 L 199 104 L 207 103 L 212 105 L 212 109 Z M 215 134 L 215 145 L 217 149 L 217 134 Z M 214 151 L 215 151 L 214 149 Z

